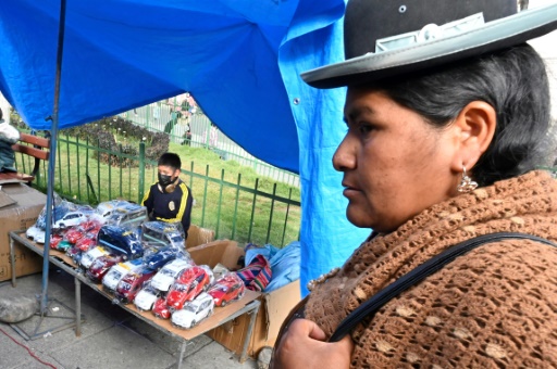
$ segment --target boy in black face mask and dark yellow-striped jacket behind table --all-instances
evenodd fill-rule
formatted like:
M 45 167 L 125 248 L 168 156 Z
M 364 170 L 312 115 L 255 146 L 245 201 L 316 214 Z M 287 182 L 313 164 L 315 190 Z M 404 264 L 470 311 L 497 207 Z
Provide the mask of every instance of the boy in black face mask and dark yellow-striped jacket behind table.
M 191 218 L 191 190 L 180 179 L 182 161 L 174 153 L 159 158 L 159 180 L 145 194 L 141 205 L 147 207 L 150 220 L 181 222 L 187 238 Z

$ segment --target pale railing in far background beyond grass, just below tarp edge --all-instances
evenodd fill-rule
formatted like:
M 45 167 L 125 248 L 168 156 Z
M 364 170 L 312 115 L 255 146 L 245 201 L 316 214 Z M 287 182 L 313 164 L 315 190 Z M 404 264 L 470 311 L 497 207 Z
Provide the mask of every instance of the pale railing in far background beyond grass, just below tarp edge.
M 213 150 L 223 160 L 234 160 L 243 166 L 252 167 L 261 176 L 299 187 L 298 175 L 250 155 L 211 124 L 200 110 L 195 113 L 184 111 L 176 98 L 140 106 L 120 116 L 151 131 L 165 132 L 172 142 Z

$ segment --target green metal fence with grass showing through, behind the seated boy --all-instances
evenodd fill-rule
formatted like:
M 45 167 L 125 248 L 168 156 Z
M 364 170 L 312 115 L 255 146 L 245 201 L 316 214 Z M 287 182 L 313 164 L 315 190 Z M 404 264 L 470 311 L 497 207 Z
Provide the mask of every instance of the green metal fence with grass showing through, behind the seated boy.
M 99 142 L 61 136 L 57 150 L 54 191 L 76 203 L 98 204 L 113 199 L 140 202 L 157 180 L 157 163 L 139 155 L 101 149 Z M 20 170 L 30 168 L 29 156 L 16 155 Z M 187 168 L 186 168 L 187 167 Z M 34 186 L 45 190 L 48 164 L 42 163 Z M 195 205 L 191 222 L 215 231 L 218 239 L 283 246 L 299 239 L 299 190 L 267 178 L 246 180 L 242 174 L 183 165 L 181 178 L 191 189 Z

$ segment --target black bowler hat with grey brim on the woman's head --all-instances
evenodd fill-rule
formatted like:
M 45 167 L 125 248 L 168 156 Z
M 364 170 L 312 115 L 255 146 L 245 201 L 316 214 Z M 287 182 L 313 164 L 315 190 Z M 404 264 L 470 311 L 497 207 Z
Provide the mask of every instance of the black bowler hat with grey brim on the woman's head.
M 349 0 L 345 61 L 301 74 L 318 88 L 371 82 L 523 43 L 557 28 L 557 4 L 517 0 Z

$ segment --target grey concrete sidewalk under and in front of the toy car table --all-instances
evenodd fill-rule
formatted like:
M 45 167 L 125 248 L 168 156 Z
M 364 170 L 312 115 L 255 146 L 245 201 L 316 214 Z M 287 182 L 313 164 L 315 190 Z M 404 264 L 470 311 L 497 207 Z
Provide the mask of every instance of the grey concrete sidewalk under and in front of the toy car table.
M 64 305 L 75 309 L 73 277 L 55 268 L 51 268 L 49 275 L 48 296 L 53 298 L 49 306 L 61 311 L 65 310 Z M 16 289 L 22 293 L 39 295 L 41 279 L 40 273 L 17 278 Z M 12 289 L 10 281 L 0 283 L 0 296 L 5 289 Z M 82 314 L 86 321 L 82 325 L 79 338 L 75 336 L 74 328 L 66 328 L 26 341 L 10 325 L 0 322 L 0 369 L 176 368 L 182 341 L 164 334 L 113 305 L 108 298 L 84 284 Z M 39 319 L 38 316 L 33 317 L 17 327 L 33 335 L 37 327 L 37 331 L 42 332 L 48 331 L 49 326 L 59 327 L 66 321 L 50 318 L 38 326 Z M 51 366 L 41 364 L 32 354 Z M 252 369 L 257 368 L 257 364 L 250 358 L 239 364 L 237 355 L 210 338 L 200 335 L 188 342 L 182 367 Z

